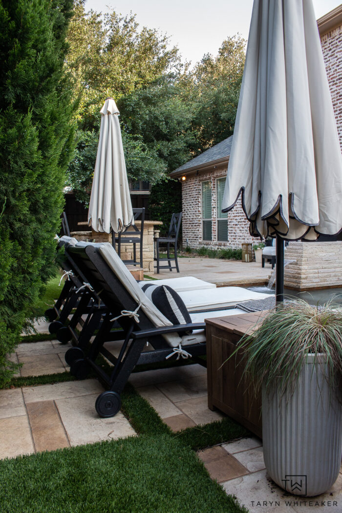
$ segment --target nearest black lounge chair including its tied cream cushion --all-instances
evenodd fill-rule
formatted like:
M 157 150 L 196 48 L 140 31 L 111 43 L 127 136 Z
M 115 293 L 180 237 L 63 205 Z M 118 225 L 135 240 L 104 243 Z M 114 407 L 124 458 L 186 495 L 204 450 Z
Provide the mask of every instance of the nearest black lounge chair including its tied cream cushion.
M 90 344 L 78 343 L 66 352 L 66 361 L 76 377 L 86 378 L 93 368 L 109 388 L 95 403 L 101 417 L 112 417 L 119 411 L 120 393 L 135 365 L 163 361 L 173 355 L 205 365 L 198 358 L 206 353 L 205 324 L 173 325 L 138 286 L 111 244 L 68 246 L 66 251 L 110 312 Z M 113 332 L 113 321 L 120 330 Z M 117 358 L 105 347 L 112 340 L 123 340 Z M 153 350 L 143 351 L 147 342 Z M 98 354 L 113 365 L 110 374 L 95 362 Z

